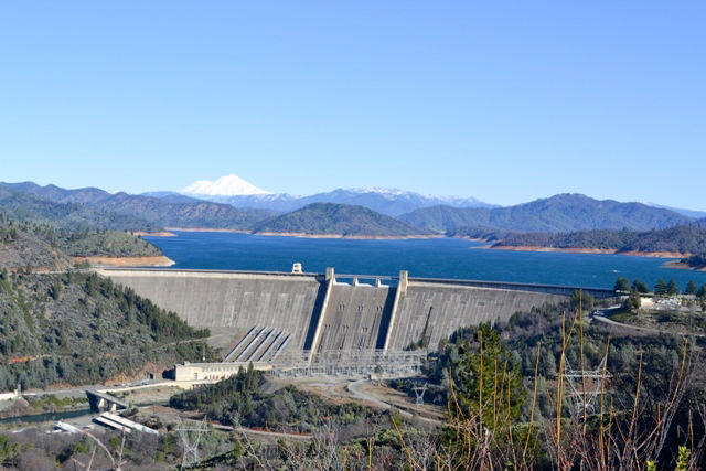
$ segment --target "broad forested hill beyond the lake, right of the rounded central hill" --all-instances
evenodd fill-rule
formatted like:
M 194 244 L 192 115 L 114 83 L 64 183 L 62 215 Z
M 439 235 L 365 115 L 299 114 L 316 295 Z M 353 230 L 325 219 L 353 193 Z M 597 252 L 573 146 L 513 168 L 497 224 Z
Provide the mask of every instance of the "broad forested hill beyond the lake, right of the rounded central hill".
M 641 203 L 598 201 L 581 194 L 559 194 L 490 210 L 434 206 L 405 214 L 399 220 L 437 232 L 470 226 L 547 233 L 622 228 L 650 231 L 687 225 L 694 221 L 671 210 Z

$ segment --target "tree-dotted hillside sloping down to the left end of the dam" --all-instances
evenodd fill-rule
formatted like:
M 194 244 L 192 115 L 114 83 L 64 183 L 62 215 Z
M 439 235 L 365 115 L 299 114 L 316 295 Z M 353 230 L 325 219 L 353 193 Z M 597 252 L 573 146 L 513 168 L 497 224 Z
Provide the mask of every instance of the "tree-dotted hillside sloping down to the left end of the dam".
M 213 355 L 174 313 L 96 274 L 0 274 L 0 389 L 122 382 Z M 192 340 L 193 342 L 178 343 Z

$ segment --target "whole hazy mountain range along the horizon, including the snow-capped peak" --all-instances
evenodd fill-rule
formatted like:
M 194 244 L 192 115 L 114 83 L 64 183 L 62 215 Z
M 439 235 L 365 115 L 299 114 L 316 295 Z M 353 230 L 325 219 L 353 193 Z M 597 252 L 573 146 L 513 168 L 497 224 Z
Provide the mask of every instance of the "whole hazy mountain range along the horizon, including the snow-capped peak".
M 706 226 L 706 220 L 695 220 L 668 208 L 599 201 L 581 194 L 559 194 L 499 207 L 473 199 L 437 197 L 383 189 L 335 190 L 312 196 L 289 196 L 264 193 L 234 179 L 221 180 L 217 186 L 231 193 L 260 193 L 210 195 L 211 200 L 223 201 L 215 202 L 175 192 L 131 195 L 108 193 L 96 188 L 65 190 L 32 182 L 0 183 L 0 212 L 19 220 L 50 223 L 58 228 L 90 226 L 154 231 L 201 227 L 350 236 L 434 233 L 473 236 L 494 233 L 498 237 L 503 232 L 651 231 L 677 225 Z M 236 184 L 231 184 L 234 182 Z M 210 190 L 201 185 L 199 191 L 207 193 Z M 248 204 L 235 207 L 233 204 L 237 201 Z M 260 207 L 271 204 L 269 207 L 279 210 L 253 208 L 258 202 Z M 276 203 L 279 206 L 275 206 Z M 437 204 L 429 206 L 431 203 Z M 467 207 L 458 207 L 461 205 Z

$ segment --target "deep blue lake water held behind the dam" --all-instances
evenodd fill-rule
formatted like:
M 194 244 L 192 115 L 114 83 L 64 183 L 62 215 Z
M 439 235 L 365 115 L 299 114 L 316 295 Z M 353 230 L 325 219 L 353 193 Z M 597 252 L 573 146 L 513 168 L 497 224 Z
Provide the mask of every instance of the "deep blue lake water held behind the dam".
M 176 261 L 172 268 L 290 271 L 516 281 L 612 288 L 618 276 L 640 278 L 650 287 L 674 279 L 706 283 L 706 272 L 665 268 L 664 258 L 622 255 L 489 250 L 484 244 L 454 238 L 410 240 L 317 239 L 235 233 L 178 232 L 176 237 L 145 237 Z

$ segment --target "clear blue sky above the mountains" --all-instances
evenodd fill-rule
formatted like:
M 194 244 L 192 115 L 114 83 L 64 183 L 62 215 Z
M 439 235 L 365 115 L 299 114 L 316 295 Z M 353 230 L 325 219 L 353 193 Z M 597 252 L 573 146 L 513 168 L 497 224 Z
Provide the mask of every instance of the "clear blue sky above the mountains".
M 706 210 L 706 2 L 4 1 L 0 181 Z

